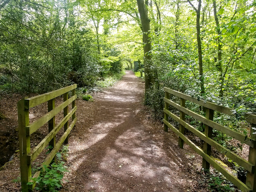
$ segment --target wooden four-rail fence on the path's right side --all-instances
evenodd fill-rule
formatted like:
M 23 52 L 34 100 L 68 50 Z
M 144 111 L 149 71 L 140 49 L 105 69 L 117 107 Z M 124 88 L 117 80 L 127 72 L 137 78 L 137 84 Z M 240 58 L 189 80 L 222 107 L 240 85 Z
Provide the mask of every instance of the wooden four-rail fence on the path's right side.
M 221 124 L 218 124 L 213 121 L 214 111 L 218 111 L 224 114 L 231 115 L 233 113 L 233 109 L 224 106 L 218 106 L 211 102 L 205 102 L 203 100 L 198 100 L 192 98 L 189 95 L 174 91 L 172 89 L 164 87 L 165 98 L 164 98 L 164 131 L 168 131 L 170 128 L 173 132 L 175 132 L 179 136 L 178 144 L 181 148 L 183 148 L 184 141 L 193 149 L 195 152 L 200 154 L 203 158 L 202 168 L 209 169 L 209 166 L 212 165 L 221 172 L 227 179 L 229 179 L 234 185 L 236 185 L 243 192 L 256 192 L 256 139 L 255 134 L 253 135 L 253 131 L 251 129 L 251 137 L 247 137 L 247 135 L 243 135 L 239 132 L 231 130 Z M 180 105 L 176 104 L 174 101 L 170 100 L 170 94 L 175 95 L 180 98 Z M 206 116 L 202 116 L 197 114 L 185 107 L 186 100 L 196 103 L 200 106 L 205 107 Z M 173 106 L 180 111 L 180 116 L 176 116 L 174 113 L 171 113 L 168 109 L 169 106 Z M 198 131 L 195 127 L 189 125 L 185 121 L 185 114 L 201 121 L 205 125 L 204 133 Z M 176 129 L 173 125 L 168 122 L 168 117 L 171 117 L 175 121 L 179 123 L 179 129 Z M 245 114 L 244 119 L 251 123 L 252 127 L 256 127 L 256 115 L 253 114 Z M 197 137 L 204 141 L 203 149 L 199 146 L 196 146 L 191 140 L 189 140 L 185 135 L 184 131 L 188 129 L 190 132 L 193 132 Z M 217 143 L 212 138 L 212 131 L 216 129 L 230 137 L 233 137 L 241 143 L 245 143 L 249 145 L 249 160 L 243 159 L 239 155 L 234 152 L 229 151 L 227 148 L 223 147 L 219 143 Z M 247 170 L 246 183 L 244 184 L 241 180 L 237 179 L 233 174 L 228 172 L 223 166 L 218 164 L 213 158 L 211 158 L 211 147 L 214 147 L 217 151 L 221 152 L 223 155 L 226 155 L 229 159 L 232 159 L 238 165 L 243 166 L 244 169 Z

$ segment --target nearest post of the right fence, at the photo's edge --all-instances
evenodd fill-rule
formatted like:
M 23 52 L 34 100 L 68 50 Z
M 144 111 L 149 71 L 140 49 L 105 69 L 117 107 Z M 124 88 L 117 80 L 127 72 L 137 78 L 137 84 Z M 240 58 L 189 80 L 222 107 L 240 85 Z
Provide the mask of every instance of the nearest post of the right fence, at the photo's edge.
M 251 127 L 256 127 L 256 124 L 251 124 Z M 253 135 L 253 132 L 256 132 L 251 128 L 251 137 Z M 249 148 L 249 163 L 252 163 L 254 166 L 256 166 L 256 141 L 254 141 L 254 147 Z M 252 189 L 253 192 L 256 192 L 256 170 L 252 172 L 248 172 L 246 175 L 246 185 Z

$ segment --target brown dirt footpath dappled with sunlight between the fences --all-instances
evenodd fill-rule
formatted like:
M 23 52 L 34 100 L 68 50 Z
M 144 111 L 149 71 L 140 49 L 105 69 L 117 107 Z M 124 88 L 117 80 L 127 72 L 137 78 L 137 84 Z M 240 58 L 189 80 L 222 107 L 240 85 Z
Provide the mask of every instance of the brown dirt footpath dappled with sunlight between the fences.
M 144 83 L 127 71 L 97 94 L 86 111 L 78 101 L 69 139 L 69 171 L 61 192 L 192 192 L 201 158 L 163 132 L 143 106 Z M 88 113 L 88 114 L 87 114 Z M 196 171 L 197 170 L 197 171 Z

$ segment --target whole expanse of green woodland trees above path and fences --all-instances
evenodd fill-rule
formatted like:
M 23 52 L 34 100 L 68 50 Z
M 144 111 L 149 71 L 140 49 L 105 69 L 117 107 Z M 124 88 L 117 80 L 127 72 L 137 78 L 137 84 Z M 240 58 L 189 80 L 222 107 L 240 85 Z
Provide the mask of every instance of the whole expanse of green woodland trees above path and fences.
M 159 113 L 163 86 L 255 109 L 255 0 L 4 0 L 0 37 L 1 92 L 94 86 L 140 60 Z

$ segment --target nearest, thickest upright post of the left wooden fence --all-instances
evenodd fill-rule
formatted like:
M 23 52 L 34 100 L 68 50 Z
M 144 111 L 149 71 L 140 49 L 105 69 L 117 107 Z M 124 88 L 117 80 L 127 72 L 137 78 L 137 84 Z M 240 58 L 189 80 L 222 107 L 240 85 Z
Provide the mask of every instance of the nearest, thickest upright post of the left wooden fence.
M 18 122 L 19 122 L 19 145 L 20 145 L 20 176 L 21 191 L 28 192 L 30 186 L 27 182 L 31 176 L 31 162 L 27 159 L 30 153 L 30 136 L 27 135 L 26 126 L 29 125 L 28 106 L 25 107 L 25 99 L 18 102 Z

